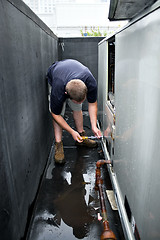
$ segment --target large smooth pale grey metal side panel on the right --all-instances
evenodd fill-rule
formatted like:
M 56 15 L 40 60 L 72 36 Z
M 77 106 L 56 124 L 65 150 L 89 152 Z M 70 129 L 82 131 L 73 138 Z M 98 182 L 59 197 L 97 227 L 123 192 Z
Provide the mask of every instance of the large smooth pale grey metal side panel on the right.
M 159 63 L 158 8 L 116 35 L 114 171 L 142 240 L 160 238 Z

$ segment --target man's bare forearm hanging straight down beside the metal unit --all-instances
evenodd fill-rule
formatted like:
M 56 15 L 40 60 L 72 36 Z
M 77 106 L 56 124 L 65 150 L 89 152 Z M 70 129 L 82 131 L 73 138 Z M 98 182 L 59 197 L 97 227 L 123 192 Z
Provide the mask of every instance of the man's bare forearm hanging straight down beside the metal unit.
M 97 137 L 102 136 L 101 131 L 97 128 L 97 111 L 98 111 L 97 101 L 94 103 L 88 103 L 88 111 L 94 135 Z

